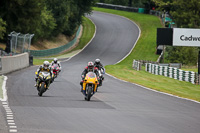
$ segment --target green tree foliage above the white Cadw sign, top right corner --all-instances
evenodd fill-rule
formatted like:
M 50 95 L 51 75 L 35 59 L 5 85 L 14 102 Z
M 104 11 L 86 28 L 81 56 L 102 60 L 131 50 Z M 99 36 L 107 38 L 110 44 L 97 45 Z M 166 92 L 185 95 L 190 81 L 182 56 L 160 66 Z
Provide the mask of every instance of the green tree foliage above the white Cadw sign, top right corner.
M 170 13 L 179 28 L 200 27 L 199 0 L 153 0 L 160 10 Z

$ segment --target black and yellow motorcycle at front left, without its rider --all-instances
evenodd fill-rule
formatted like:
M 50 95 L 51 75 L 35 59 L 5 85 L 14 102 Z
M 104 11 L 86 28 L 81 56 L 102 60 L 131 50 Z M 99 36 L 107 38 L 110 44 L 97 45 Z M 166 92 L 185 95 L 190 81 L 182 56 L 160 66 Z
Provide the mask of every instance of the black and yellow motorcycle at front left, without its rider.
M 35 72 L 35 74 L 37 75 L 38 73 Z M 48 89 L 47 84 L 48 84 L 49 80 L 52 80 L 50 73 L 49 72 L 40 72 L 37 80 L 39 80 L 39 84 L 37 86 L 38 95 L 42 96 L 42 94 Z

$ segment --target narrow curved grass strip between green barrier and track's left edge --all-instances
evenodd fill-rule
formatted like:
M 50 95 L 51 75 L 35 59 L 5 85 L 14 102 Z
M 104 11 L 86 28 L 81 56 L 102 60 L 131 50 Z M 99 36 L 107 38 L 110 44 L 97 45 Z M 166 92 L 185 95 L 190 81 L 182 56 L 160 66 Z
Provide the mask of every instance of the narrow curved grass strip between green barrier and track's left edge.
M 82 31 L 82 36 L 80 38 L 79 45 L 69 52 L 64 52 L 64 53 L 59 54 L 59 55 L 54 55 L 54 56 L 51 56 L 51 58 L 70 54 L 73 51 L 77 51 L 77 50 L 82 49 L 91 40 L 91 38 L 94 35 L 94 32 L 95 32 L 95 25 L 91 22 L 90 19 L 84 17 L 83 18 L 83 31 Z M 50 57 L 47 57 L 47 58 L 50 58 Z M 41 65 L 45 60 L 46 59 L 34 58 L 33 59 L 33 65 Z M 48 61 L 51 62 L 52 60 L 48 60 Z

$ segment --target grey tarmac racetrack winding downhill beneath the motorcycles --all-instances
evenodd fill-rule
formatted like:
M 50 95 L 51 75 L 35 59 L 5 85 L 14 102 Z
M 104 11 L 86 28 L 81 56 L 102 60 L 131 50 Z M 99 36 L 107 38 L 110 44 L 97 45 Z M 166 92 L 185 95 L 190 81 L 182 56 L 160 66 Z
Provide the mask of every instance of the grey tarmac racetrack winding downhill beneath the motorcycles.
M 93 41 L 62 62 L 63 70 L 43 97 L 34 88 L 37 66 L 8 76 L 8 102 L 19 133 L 199 133 L 200 104 L 156 93 L 105 75 L 103 86 L 85 101 L 80 75 L 88 61 L 121 60 L 138 28 L 119 16 L 94 12 Z

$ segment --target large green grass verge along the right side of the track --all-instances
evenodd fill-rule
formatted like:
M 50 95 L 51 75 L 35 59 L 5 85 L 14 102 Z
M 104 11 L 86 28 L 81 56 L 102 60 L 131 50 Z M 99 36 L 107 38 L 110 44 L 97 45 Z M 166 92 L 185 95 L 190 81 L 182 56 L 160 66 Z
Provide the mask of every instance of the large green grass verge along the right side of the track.
M 148 72 L 132 69 L 133 59 L 156 61 L 156 29 L 162 27 L 158 17 L 146 14 L 117 11 L 111 9 L 94 8 L 95 11 L 124 16 L 134 21 L 141 29 L 141 36 L 132 53 L 116 65 L 106 66 L 106 72 L 132 83 L 170 93 L 184 98 L 200 101 L 200 86 L 189 82 L 179 81 L 164 76 L 153 75 Z M 188 70 L 185 68 L 185 70 Z

